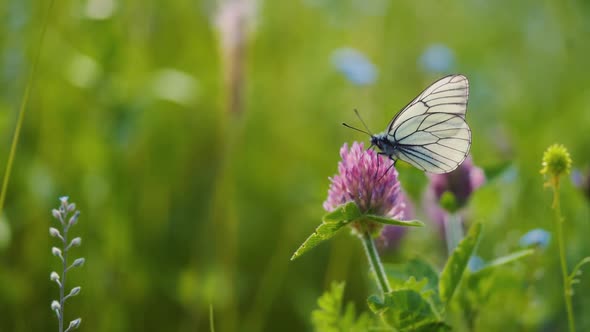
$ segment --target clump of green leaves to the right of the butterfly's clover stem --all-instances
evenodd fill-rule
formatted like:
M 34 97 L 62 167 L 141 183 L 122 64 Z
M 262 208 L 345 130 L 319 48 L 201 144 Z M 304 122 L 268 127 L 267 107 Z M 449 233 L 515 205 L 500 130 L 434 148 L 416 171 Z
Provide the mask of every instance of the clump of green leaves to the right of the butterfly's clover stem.
M 477 317 L 477 308 L 486 303 L 494 292 L 494 271 L 509 263 L 532 255 L 526 249 L 499 257 L 476 272 L 465 272 L 481 234 L 481 224 L 474 224 L 457 246 L 440 277 L 436 270 L 421 259 L 405 264 L 385 265 L 393 289 L 391 293 L 368 299 L 369 306 L 392 328 L 399 331 L 447 331 L 444 321 L 446 307 L 459 284 L 461 312 L 470 326 Z

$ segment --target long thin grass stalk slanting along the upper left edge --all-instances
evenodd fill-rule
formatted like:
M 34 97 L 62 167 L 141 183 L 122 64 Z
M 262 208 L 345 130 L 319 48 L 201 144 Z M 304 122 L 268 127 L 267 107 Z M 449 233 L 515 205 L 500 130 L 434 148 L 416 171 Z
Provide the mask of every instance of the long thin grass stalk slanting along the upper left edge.
M 4 179 L 2 180 L 2 190 L 0 191 L 0 214 L 4 208 L 4 200 L 6 199 L 6 191 L 8 189 L 8 180 L 10 179 L 10 173 L 12 172 L 12 165 L 14 164 L 14 155 L 16 154 L 16 147 L 18 145 L 18 138 L 20 136 L 20 129 L 23 126 L 24 118 L 25 118 L 25 110 L 27 109 L 27 103 L 29 101 L 29 95 L 31 93 L 31 88 L 33 86 L 33 81 L 35 78 L 35 72 L 37 71 L 37 65 L 39 63 L 39 58 L 41 57 L 41 46 L 43 45 L 43 40 L 45 39 L 45 31 L 47 31 L 47 26 L 49 25 L 49 17 L 51 13 L 51 8 L 53 7 L 53 0 L 49 2 L 49 8 L 47 9 L 47 14 L 45 14 L 45 23 L 41 28 L 41 37 L 39 39 L 39 48 L 37 50 L 37 54 L 35 55 L 35 59 L 33 60 L 33 65 L 31 67 L 31 71 L 29 72 L 29 77 L 27 79 L 27 85 L 25 87 L 25 92 L 23 94 L 23 99 L 21 100 L 20 108 L 18 111 L 18 119 L 16 120 L 16 127 L 14 129 L 14 134 L 12 135 L 12 144 L 10 145 L 10 152 L 8 154 L 8 161 L 6 162 L 6 170 L 4 172 Z

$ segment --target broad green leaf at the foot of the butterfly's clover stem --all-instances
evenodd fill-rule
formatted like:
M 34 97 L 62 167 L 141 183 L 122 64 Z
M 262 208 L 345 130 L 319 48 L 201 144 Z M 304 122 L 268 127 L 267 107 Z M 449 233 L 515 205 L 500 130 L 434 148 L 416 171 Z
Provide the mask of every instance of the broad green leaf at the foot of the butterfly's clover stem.
M 430 303 L 415 290 L 402 289 L 386 293 L 383 299 L 373 295 L 367 300 L 373 312 L 398 331 L 443 331 Z

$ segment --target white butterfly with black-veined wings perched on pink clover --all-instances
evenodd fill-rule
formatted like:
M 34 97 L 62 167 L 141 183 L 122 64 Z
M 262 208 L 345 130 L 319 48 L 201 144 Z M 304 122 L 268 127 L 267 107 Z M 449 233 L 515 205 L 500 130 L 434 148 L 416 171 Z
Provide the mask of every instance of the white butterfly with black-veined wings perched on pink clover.
M 448 173 L 463 163 L 471 147 L 471 129 L 465 122 L 468 98 L 467 77 L 449 75 L 422 91 L 381 133 L 343 125 L 370 135 L 371 147 L 394 164 L 401 159 L 424 172 Z

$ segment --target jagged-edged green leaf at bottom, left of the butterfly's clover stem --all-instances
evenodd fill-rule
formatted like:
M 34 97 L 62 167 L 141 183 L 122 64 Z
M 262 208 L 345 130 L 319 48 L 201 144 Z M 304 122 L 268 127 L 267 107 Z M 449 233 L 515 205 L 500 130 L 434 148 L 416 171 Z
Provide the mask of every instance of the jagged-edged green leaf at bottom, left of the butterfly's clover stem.
M 312 323 L 316 331 L 322 332 L 362 332 L 367 331 L 371 319 L 365 312 L 358 317 L 354 303 L 349 302 L 344 309 L 344 282 L 333 282 L 329 291 L 318 299 L 319 308 L 312 312 Z

